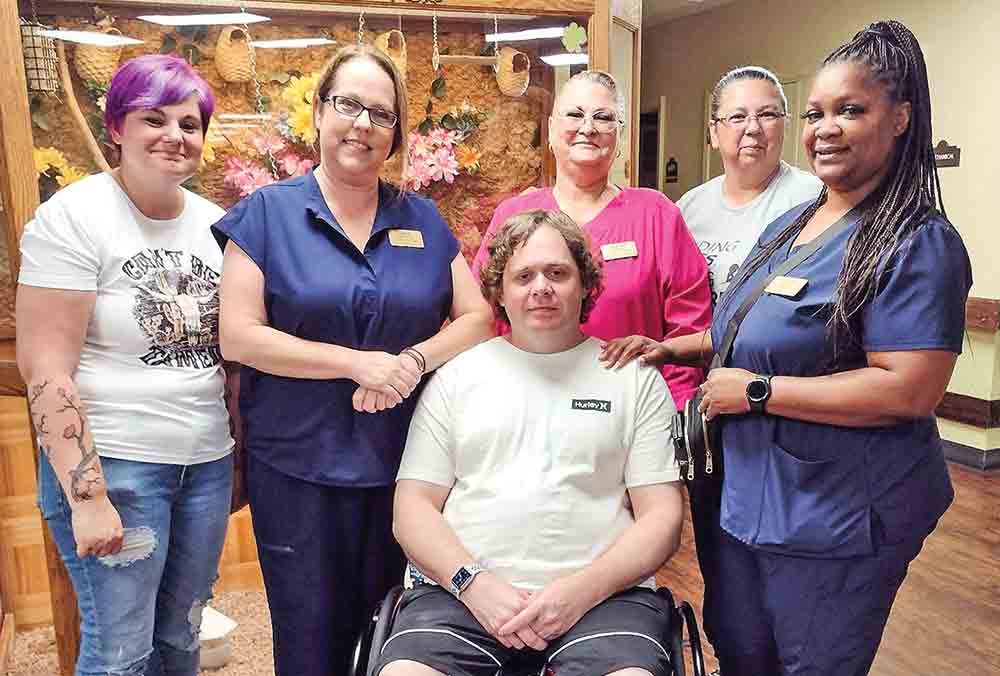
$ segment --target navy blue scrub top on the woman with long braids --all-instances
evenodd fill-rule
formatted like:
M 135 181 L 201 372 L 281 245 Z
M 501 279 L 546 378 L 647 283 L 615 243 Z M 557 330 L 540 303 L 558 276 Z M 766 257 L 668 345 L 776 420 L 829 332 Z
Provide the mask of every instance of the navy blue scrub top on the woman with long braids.
M 776 237 L 808 206 L 795 207 L 761 235 Z M 808 279 L 797 298 L 764 293 L 747 314 L 726 366 L 776 376 L 819 376 L 867 365 L 866 352 L 961 353 L 972 271 L 958 232 L 931 216 L 883 262 L 875 298 L 863 311 L 861 347 L 833 366 L 827 322 L 854 226 L 788 273 Z M 714 345 L 726 323 L 791 242 L 716 308 Z M 878 541 L 925 535 L 951 504 L 933 417 L 852 428 L 772 415 L 723 416 L 722 526 L 762 550 L 811 557 L 871 554 Z

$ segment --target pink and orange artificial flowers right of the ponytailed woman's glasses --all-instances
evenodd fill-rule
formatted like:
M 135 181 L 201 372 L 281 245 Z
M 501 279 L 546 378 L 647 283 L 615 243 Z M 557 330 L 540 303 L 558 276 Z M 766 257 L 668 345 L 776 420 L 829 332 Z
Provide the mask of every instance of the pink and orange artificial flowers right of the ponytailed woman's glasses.
M 435 120 L 428 115 L 410 132 L 409 172 L 403 178 L 409 190 L 421 190 L 437 181 L 453 183 L 460 173 L 479 171 L 482 153 L 466 140 L 479 129 L 486 114 L 463 101 Z

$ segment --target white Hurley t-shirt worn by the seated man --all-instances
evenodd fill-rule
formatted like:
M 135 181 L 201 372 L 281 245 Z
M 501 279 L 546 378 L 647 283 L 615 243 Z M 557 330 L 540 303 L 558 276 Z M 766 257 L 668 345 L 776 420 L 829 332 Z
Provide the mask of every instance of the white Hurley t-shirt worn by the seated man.
M 438 369 L 410 423 L 399 479 L 451 488 L 444 518 L 511 584 L 589 565 L 634 521 L 626 489 L 677 481 L 673 400 L 660 372 L 494 338 Z

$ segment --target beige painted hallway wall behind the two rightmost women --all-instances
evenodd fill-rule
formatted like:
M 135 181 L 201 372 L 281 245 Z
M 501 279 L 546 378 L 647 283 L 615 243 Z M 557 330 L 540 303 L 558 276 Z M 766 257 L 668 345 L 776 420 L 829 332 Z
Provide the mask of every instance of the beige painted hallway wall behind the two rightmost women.
M 783 78 L 813 73 L 839 44 L 871 21 L 894 18 L 916 34 L 927 60 L 935 142 L 962 148 L 961 166 L 941 170 L 945 206 L 972 258 L 972 294 L 1000 298 L 997 211 L 991 193 L 1000 180 L 1000 2 L 995 0 L 864 0 L 804 3 L 741 0 L 644 31 L 642 109 L 667 97 L 666 157 L 680 163 L 671 199 L 701 182 L 705 152 L 705 90 L 738 65 L 762 65 Z M 792 111 L 799 114 L 802 111 Z M 798 143 L 786 137 L 786 143 Z M 647 149 L 642 149 L 647 152 Z M 653 150 L 655 152 L 655 150 Z M 1000 398 L 996 337 L 971 332 L 949 388 Z M 942 431 L 948 434 L 945 426 Z M 950 435 L 949 435 L 950 436 Z M 958 436 L 958 435 L 956 435 Z M 992 448 L 968 431 L 956 441 Z

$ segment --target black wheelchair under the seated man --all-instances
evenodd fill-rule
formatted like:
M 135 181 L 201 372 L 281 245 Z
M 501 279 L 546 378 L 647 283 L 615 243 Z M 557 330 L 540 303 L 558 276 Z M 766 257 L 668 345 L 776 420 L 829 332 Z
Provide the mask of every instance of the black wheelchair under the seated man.
M 664 636 L 668 639 L 665 645 L 668 646 L 673 670 L 668 676 L 687 676 L 684 664 L 685 645 L 691 650 L 693 676 L 705 676 L 705 658 L 701 650 L 701 635 L 698 633 L 694 608 L 687 601 L 680 606 L 675 605 L 673 594 L 666 587 L 660 587 L 656 593 L 666 601 L 669 609 L 669 626 L 665 628 Z M 361 636 L 354 644 L 348 676 L 374 676 L 372 672 L 382 652 L 382 646 L 392 633 L 392 625 L 396 620 L 402 595 L 402 586 L 393 587 L 372 612 L 368 626 L 362 630 Z M 687 641 L 684 640 L 685 630 Z M 542 666 L 523 660 L 505 667 L 501 676 L 536 676 Z

